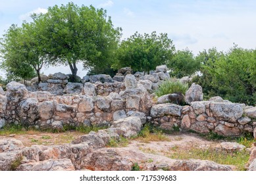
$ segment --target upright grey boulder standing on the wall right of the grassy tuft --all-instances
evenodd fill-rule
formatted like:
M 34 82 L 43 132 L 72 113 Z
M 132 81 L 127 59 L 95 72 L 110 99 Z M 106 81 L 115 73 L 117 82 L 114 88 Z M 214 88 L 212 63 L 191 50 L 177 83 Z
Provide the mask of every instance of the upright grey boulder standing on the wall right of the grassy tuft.
M 203 89 L 200 85 L 192 83 L 190 89 L 186 91 L 185 101 L 191 104 L 194 101 L 203 101 Z

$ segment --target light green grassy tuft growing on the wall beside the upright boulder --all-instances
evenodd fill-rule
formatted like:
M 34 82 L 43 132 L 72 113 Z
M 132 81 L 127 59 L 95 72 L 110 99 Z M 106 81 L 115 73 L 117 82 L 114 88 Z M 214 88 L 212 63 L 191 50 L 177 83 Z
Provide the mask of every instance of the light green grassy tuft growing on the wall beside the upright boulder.
M 188 91 L 188 84 L 181 81 L 166 80 L 155 90 L 155 95 L 161 97 L 170 93 L 182 93 L 185 95 Z

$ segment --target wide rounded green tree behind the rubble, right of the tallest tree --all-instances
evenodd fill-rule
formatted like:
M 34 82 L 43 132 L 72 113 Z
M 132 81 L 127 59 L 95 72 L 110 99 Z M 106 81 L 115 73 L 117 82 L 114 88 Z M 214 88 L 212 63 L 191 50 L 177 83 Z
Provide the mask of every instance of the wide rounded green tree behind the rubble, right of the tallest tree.
M 138 34 L 120 43 L 117 51 L 118 62 L 114 68 L 130 66 L 134 71 L 149 72 L 156 66 L 166 64 L 172 58 L 174 45 L 167 34 L 157 35 L 156 32 Z

